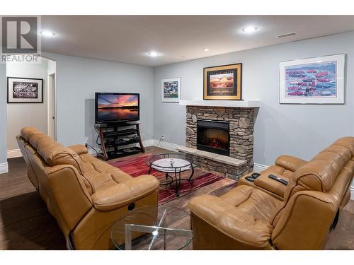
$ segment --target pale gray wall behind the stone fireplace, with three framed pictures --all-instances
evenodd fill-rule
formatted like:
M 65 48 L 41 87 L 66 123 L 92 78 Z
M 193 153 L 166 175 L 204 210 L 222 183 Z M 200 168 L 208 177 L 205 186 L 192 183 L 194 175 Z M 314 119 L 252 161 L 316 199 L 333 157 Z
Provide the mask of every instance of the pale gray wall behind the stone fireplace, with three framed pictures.
M 280 105 L 279 62 L 346 54 L 345 105 Z M 185 107 L 161 102 L 161 78 L 181 77 L 182 100 L 202 99 L 203 67 L 243 64 L 244 100 L 261 100 L 254 162 L 272 165 L 281 154 L 309 159 L 341 136 L 354 136 L 354 32 L 249 49 L 154 68 L 154 139 L 185 144 Z

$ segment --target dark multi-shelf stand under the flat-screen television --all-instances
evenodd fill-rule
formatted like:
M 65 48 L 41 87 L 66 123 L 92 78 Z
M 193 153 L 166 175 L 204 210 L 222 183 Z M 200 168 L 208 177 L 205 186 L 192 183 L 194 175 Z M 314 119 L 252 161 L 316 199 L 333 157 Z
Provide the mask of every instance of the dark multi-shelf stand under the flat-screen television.
M 101 140 L 102 153 L 99 158 L 110 160 L 135 153 L 145 153 L 139 123 L 96 124 L 96 131 Z M 131 146 L 139 143 L 139 147 Z

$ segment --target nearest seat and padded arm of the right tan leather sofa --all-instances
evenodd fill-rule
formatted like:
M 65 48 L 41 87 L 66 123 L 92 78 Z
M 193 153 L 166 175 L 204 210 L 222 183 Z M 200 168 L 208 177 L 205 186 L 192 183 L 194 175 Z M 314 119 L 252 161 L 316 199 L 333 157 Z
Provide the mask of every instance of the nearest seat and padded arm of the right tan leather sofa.
M 197 196 L 190 211 L 235 240 L 253 247 L 266 247 L 273 232 L 269 219 L 282 201 L 246 185 L 220 197 Z

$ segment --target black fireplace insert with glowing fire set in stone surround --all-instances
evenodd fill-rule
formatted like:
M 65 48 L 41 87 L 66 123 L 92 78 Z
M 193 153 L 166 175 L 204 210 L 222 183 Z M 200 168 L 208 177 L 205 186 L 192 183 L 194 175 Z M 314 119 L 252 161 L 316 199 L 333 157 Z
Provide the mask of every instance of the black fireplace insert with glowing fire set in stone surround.
M 229 122 L 198 120 L 197 149 L 229 156 Z

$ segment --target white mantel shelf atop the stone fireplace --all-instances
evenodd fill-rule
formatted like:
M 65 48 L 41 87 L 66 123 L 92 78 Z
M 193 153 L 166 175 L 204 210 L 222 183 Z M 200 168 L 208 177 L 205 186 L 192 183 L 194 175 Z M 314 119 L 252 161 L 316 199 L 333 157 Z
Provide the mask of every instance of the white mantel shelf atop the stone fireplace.
M 180 100 L 183 106 L 206 106 L 206 107 L 261 107 L 258 100 Z

